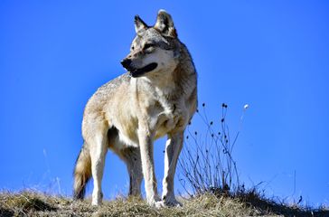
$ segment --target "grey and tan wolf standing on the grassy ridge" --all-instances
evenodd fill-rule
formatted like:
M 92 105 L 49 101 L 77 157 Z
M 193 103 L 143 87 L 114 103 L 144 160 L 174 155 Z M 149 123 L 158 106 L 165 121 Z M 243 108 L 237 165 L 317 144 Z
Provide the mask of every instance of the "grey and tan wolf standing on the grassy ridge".
M 101 86 L 85 107 L 84 143 L 74 168 L 73 196 L 83 199 L 92 176 L 92 204 L 101 204 L 101 179 L 110 149 L 127 165 L 129 195 L 140 196 L 144 178 L 147 203 L 179 206 L 174 173 L 184 129 L 197 108 L 197 75 L 170 14 L 160 10 L 154 26 L 136 15 L 135 30 L 130 52 L 121 61 L 127 72 Z M 153 146 L 155 139 L 165 135 L 163 193 L 159 198 Z

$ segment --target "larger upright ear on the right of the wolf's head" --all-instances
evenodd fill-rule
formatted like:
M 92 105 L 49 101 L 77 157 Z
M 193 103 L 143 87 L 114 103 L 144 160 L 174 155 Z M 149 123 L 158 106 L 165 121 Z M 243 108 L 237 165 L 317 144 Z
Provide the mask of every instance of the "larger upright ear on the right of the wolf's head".
M 172 16 L 164 10 L 160 10 L 157 13 L 155 29 L 160 31 L 164 36 L 172 38 L 177 37 L 176 29 L 174 28 L 174 22 Z

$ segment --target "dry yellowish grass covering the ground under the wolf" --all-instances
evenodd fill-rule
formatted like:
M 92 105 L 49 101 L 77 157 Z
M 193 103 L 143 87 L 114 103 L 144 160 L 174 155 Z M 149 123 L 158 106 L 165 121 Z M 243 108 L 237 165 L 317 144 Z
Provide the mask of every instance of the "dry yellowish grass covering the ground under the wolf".
M 256 194 L 255 194 L 256 195 Z M 312 212 L 279 205 L 252 194 L 240 198 L 205 193 L 181 199 L 183 207 L 155 209 L 136 198 L 118 197 L 99 208 L 87 201 L 24 191 L 0 193 L 0 216 L 329 216 L 326 210 Z

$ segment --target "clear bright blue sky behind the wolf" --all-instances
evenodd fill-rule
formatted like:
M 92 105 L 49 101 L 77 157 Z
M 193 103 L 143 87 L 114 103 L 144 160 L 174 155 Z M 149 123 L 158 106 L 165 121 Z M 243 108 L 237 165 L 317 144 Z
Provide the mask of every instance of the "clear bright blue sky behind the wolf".
M 0 188 L 71 195 L 84 106 L 124 72 L 134 15 L 154 24 L 160 8 L 193 55 L 209 116 L 219 119 L 225 102 L 237 130 L 250 105 L 234 153 L 240 179 L 328 204 L 327 1 L 1 1 Z M 163 150 L 159 140 L 159 183 Z M 105 196 L 127 193 L 127 184 L 125 165 L 109 153 Z

